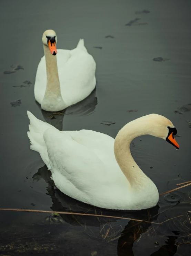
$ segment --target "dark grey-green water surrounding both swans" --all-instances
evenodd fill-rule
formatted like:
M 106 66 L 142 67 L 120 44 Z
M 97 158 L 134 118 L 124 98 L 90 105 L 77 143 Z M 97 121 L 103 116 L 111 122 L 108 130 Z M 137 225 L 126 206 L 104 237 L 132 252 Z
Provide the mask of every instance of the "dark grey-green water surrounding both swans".
M 140 13 L 143 10 L 150 12 Z M 191 254 L 191 186 L 161 196 L 149 212 L 93 208 L 54 190 L 46 166 L 29 149 L 27 137 L 27 110 L 60 130 L 90 129 L 113 138 L 135 118 L 161 114 L 177 128 L 180 149 L 143 136 L 133 141 L 132 155 L 159 193 L 191 180 L 190 105 L 179 108 L 191 103 L 190 10 L 189 0 L 0 1 L 0 207 L 145 220 L 0 211 L 0 255 Z M 57 32 L 58 48 L 72 49 L 84 38 L 97 63 L 96 90 L 54 119 L 51 113 L 41 112 L 33 92 L 46 29 Z M 32 84 L 19 87 L 27 85 L 26 80 Z M 18 99 L 21 103 L 13 105 L 19 106 L 11 106 Z M 103 121 L 115 124 L 107 126 Z

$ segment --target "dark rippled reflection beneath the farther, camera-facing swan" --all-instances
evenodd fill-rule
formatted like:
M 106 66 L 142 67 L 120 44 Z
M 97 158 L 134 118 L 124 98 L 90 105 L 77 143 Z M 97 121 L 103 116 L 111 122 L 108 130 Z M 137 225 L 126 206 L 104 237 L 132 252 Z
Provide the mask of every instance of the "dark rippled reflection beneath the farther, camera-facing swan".
M 40 104 L 36 101 L 36 104 L 41 109 Z M 90 115 L 96 109 L 98 100 L 96 97 L 96 88 L 91 92 L 91 94 L 84 100 L 72 105 L 63 111 L 59 112 L 48 112 L 41 109 L 42 115 L 45 122 L 53 125 L 58 130 L 62 131 L 62 123 L 64 115 Z

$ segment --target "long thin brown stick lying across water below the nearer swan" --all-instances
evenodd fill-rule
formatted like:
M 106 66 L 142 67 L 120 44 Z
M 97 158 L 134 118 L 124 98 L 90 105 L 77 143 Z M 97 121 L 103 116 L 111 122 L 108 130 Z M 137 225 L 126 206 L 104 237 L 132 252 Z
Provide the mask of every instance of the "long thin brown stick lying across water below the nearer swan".
M 0 211 L 19 211 L 19 212 L 45 212 L 45 213 L 59 213 L 59 214 L 72 214 L 72 215 L 86 215 L 86 216 L 96 216 L 96 217 L 108 217 L 108 218 L 115 218 L 115 219 L 123 219 L 123 220 L 135 220 L 143 222 L 144 220 L 137 220 L 125 217 L 116 217 L 116 216 L 108 216 L 108 215 L 99 215 L 99 214 L 89 214 L 89 213 L 76 213 L 76 212 L 57 212 L 57 211 L 43 211 L 43 210 L 31 210 L 31 209 L 11 209 L 11 208 L 0 208 Z M 149 221 L 144 221 L 148 222 Z M 150 222 L 154 224 L 160 224 L 157 222 Z

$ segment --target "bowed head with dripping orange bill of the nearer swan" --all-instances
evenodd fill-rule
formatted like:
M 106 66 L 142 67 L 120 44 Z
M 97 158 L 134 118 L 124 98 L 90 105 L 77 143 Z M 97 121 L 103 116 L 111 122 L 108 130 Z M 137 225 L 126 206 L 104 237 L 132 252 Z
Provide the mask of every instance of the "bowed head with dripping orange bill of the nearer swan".
M 176 149 L 179 149 L 179 144 L 174 138 L 177 134 L 177 129 L 170 120 L 158 114 L 150 114 L 146 117 L 149 118 L 149 120 L 148 118 L 146 120 L 148 121 L 147 128 L 150 135 L 162 138 L 172 144 Z

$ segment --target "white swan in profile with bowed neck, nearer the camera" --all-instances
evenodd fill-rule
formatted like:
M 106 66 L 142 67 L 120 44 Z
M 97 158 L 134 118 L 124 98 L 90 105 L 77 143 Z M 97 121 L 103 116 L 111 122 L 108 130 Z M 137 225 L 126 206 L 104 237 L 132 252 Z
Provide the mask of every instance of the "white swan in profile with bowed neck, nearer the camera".
M 58 131 L 29 111 L 28 117 L 30 148 L 40 153 L 64 194 L 115 210 L 141 210 L 158 203 L 157 187 L 135 163 L 129 147 L 135 137 L 150 134 L 178 149 L 177 130 L 167 118 L 140 117 L 126 124 L 114 140 L 91 130 Z

